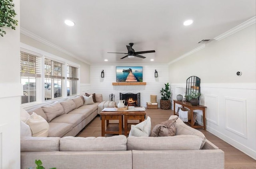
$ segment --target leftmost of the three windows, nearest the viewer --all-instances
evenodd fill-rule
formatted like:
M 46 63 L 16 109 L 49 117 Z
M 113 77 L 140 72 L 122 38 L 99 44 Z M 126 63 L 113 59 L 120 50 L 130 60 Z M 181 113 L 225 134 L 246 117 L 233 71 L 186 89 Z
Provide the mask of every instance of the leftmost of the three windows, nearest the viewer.
M 21 103 L 36 101 L 37 78 L 41 77 L 41 58 L 20 51 L 20 81 L 23 85 Z

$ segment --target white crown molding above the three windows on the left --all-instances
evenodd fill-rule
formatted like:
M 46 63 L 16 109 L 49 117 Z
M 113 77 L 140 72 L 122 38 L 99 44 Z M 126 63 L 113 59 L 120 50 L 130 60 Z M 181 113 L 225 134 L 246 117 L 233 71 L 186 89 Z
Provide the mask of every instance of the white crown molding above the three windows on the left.
M 45 45 L 48 45 L 48 46 L 50 46 L 50 47 L 52 47 L 52 48 L 54 48 L 54 49 L 56 49 L 58 51 L 61 51 L 62 53 L 65 53 L 66 55 L 69 55 L 70 57 L 73 57 L 73 58 L 75 58 L 75 59 L 77 59 L 79 61 L 82 61 L 82 62 L 90 65 L 90 63 L 88 61 L 75 56 L 73 53 L 70 53 L 69 51 L 66 51 L 65 49 L 62 49 L 61 47 L 59 47 L 59 46 L 57 46 L 57 45 L 55 45 L 55 44 L 53 44 L 53 43 L 43 39 L 42 37 L 40 37 L 40 36 L 30 32 L 30 31 L 28 31 L 27 29 L 24 29 L 24 28 L 20 27 L 20 33 L 22 33 L 23 35 L 26 35 L 28 37 L 31 37 L 32 39 L 35 39 L 36 41 L 44 43 Z

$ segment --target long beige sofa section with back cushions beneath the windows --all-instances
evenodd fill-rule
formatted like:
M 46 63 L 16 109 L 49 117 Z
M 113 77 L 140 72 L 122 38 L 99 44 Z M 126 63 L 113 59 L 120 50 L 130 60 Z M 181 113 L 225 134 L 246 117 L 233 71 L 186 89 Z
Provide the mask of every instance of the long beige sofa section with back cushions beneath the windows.
M 48 122 L 48 137 L 76 136 L 104 106 L 114 107 L 115 105 L 115 102 L 103 101 L 102 94 L 95 94 L 95 97 L 96 102 L 90 104 L 86 104 L 84 97 L 80 95 L 33 108 L 27 112 L 29 114 L 35 112 Z

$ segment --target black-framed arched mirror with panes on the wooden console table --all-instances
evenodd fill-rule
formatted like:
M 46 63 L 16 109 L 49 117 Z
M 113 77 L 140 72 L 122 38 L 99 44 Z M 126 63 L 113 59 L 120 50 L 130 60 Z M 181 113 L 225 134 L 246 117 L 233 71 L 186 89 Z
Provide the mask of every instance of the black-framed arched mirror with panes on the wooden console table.
M 200 78 L 196 76 L 191 76 L 187 79 L 186 86 L 186 95 L 190 93 L 198 93 L 200 92 Z M 198 97 L 199 100 L 199 97 Z M 186 101 L 190 102 L 190 99 L 186 97 Z

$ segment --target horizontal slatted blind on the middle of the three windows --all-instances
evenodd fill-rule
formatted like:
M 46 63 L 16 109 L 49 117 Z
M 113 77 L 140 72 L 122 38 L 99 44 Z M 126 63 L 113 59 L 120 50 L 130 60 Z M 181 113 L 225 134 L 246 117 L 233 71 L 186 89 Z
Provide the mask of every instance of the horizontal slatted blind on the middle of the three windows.
M 50 79 L 65 79 L 64 64 L 45 58 L 44 77 Z

